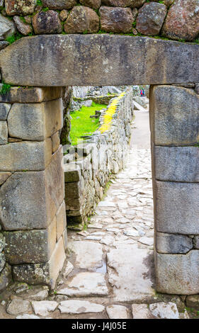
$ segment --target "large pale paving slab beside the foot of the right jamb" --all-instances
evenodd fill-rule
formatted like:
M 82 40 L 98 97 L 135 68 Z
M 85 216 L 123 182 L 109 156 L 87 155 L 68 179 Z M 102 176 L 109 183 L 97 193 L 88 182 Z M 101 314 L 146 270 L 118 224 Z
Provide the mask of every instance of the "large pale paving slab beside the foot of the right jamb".
M 107 258 L 108 281 L 113 286 L 114 300 L 144 303 L 154 299 L 149 250 L 138 249 L 137 244 L 126 244 L 111 249 Z

